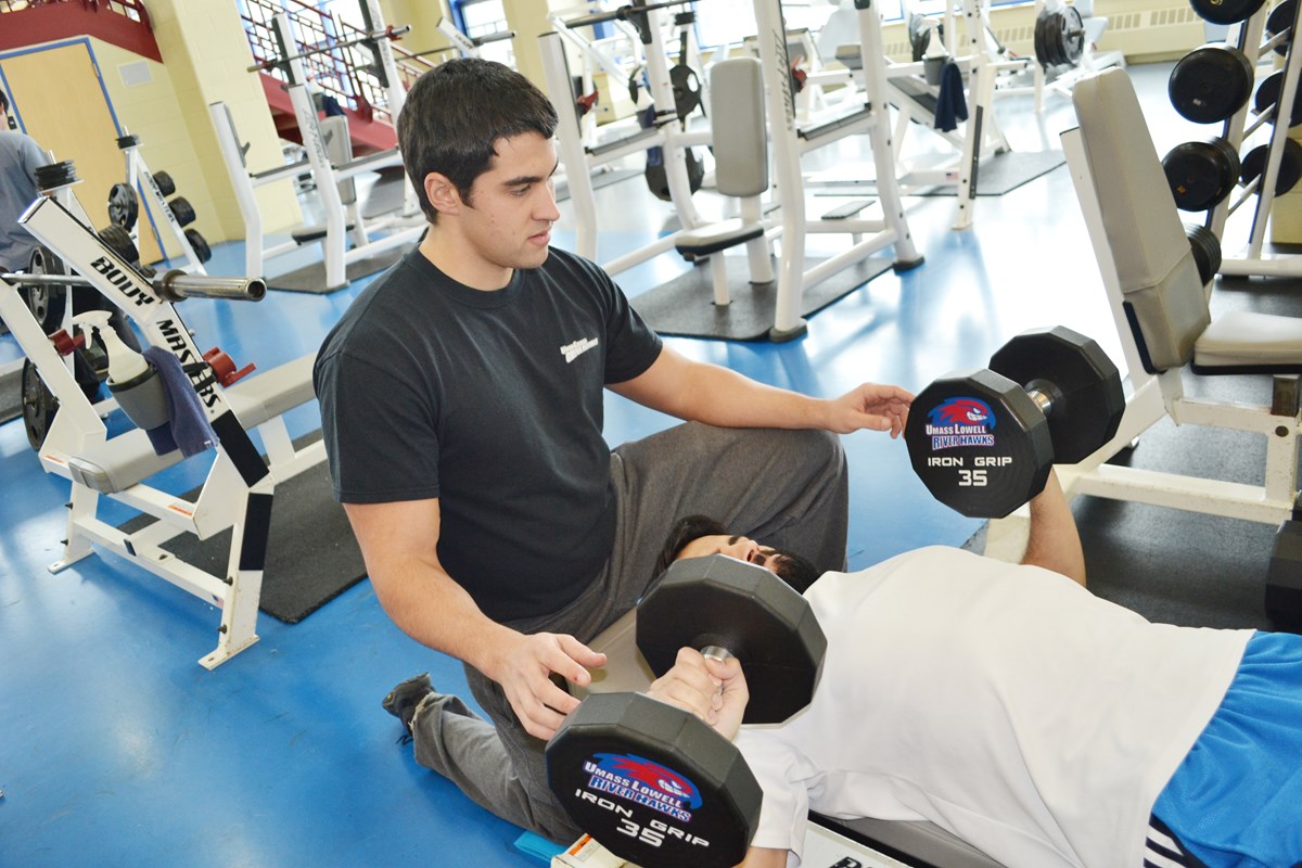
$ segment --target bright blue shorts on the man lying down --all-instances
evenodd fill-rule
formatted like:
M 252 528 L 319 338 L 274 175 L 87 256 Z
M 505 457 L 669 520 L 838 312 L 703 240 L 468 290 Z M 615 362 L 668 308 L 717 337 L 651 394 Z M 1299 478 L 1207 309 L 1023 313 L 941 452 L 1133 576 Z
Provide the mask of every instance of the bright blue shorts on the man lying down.
M 1152 812 L 1208 868 L 1302 863 L 1302 636 L 1249 640 Z

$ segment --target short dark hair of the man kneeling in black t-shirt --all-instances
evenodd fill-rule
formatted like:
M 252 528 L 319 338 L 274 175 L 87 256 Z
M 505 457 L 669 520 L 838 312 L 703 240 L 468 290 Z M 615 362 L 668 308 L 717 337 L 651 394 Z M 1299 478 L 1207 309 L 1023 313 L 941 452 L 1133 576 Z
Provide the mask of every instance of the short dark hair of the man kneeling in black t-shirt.
M 402 167 L 430 223 L 437 211 L 424 195 L 431 172 L 448 177 L 470 204 L 470 187 L 488 170 L 497 139 L 523 133 L 551 138 L 556 108 L 533 82 L 491 60 L 462 57 L 421 75 L 398 113 Z

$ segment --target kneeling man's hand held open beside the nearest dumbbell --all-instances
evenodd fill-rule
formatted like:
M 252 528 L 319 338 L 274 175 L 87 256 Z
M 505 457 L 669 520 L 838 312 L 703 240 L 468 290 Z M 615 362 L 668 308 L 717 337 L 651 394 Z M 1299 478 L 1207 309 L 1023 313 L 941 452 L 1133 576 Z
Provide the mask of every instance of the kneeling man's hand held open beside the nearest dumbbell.
M 552 673 L 587 685 L 592 681 L 589 669 L 604 666 L 605 655 L 564 634 L 516 635 L 490 677 L 501 685 L 525 731 L 547 740 L 565 716 L 578 708 L 578 700 L 552 682 Z

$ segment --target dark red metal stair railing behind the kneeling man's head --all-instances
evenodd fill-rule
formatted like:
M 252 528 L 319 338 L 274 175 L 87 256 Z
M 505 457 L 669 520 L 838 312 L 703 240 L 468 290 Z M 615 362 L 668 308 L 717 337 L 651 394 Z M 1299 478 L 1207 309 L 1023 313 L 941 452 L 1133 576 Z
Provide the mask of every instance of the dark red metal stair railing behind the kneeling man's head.
M 283 47 L 276 36 L 272 18 L 281 13 L 288 13 L 294 25 L 297 46 Z M 378 69 L 379 57 L 365 44 L 365 30 L 302 0 L 242 0 L 240 16 L 254 61 L 267 65 L 264 74 L 288 82 L 288 73 L 275 65 L 276 61 L 306 55 L 302 62 L 322 94 L 333 96 L 365 120 L 393 124 L 381 83 L 383 70 Z M 404 87 L 410 87 L 421 74 L 437 65 L 435 59 L 417 57 L 396 43 L 391 48 Z

